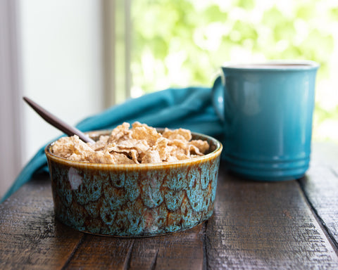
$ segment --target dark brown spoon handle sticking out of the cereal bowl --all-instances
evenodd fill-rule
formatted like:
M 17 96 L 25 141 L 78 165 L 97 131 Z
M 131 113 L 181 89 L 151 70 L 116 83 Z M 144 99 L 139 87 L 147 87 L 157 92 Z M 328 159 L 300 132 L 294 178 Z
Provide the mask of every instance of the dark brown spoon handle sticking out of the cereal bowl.
M 63 131 L 68 136 L 77 135 L 85 143 L 94 143 L 94 141 L 90 139 L 89 136 L 82 133 L 82 131 L 76 129 L 75 127 L 70 126 L 69 124 L 63 122 L 61 119 L 58 119 L 58 117 L 49 113 L 47 110 L 45 110 L 40 105 L 32 101 L 30 98 L 24 96 L 23 100 L 26 101 L 26 103 L 30 105 L 30 107 L 32 107 L 35 110 L 35 112 L 37 112 L 38 115 L 40 115 L 44 120 L 46 120 L 46 122 L 56 127 L 57 129 Z

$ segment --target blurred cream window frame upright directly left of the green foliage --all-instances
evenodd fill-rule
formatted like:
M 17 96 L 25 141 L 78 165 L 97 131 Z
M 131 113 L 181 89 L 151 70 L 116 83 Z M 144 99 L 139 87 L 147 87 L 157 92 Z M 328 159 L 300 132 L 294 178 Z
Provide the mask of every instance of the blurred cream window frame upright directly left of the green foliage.
M 131 4 L 131 0 L 102 0 L 106 108 L 131 97 Z

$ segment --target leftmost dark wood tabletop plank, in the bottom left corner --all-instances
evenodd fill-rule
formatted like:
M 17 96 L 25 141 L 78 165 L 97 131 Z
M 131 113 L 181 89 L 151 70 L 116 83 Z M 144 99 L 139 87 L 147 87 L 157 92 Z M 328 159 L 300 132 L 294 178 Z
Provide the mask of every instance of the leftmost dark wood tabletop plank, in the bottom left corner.
M 54 220 L 47 177 L 0 205 L 0 269 L 61 269 L 81 240 L 83 233 Z

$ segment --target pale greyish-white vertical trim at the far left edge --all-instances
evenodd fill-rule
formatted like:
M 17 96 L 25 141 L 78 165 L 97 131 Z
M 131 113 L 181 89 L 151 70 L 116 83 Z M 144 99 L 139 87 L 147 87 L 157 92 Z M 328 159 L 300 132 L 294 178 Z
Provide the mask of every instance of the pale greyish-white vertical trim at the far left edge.
M 18 0 L 0 1 L 0 198 L 22 167 Z

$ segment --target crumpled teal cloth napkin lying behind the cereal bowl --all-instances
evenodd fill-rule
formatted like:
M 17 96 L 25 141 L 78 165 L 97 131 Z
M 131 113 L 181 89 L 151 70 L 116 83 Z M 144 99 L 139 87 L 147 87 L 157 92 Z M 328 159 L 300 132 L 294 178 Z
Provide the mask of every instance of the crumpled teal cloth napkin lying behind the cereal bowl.
M 207 87 L 165 89 L 132 98 L 102 113 L 87 117 L 77 124 L 77 128 L 81 131 L 113 129 L 123 122 L 132 124 L 135 121 L 151 127 L 182 127 L 216 138 L 222 133 L 222 124 L 211 102 L 211 89 Z M 45 147 L 40 148 L 25 165 L 1 202 L 30 181 L 33 174 L 48 169 Z

